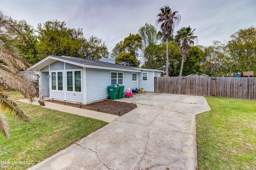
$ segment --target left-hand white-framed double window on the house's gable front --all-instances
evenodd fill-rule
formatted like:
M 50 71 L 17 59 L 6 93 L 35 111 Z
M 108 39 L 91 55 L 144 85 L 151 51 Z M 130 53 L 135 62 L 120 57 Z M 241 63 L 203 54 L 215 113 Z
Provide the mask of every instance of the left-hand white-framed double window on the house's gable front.
M 51 72 L 52 90 L 63 91 L 63 72 Z

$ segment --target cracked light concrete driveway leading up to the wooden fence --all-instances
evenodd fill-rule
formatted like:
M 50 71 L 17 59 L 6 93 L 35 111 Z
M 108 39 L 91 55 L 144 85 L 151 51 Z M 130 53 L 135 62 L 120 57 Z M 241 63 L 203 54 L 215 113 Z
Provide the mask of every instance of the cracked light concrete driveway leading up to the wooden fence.
M 137 108 L 33 166 L 49 170 L 195 170 L 202 96 L 141 93 Z

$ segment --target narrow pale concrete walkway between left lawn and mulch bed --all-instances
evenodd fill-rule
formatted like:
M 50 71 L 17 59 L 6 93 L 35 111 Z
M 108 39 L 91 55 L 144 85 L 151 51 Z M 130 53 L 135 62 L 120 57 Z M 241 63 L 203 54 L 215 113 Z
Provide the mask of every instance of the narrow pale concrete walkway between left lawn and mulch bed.
M 30 104 L 30 102 L 27 99 L 22 99 L 22 100 L 18 100 L 18 101 Z M 38 101 L 38 100 L 35 99 L 35 102 L 32 102 L 32 104 L 39 106 L 39 103 L 36 102 L 36 101 Z M 45 107 L 45 108 L 48 108 L 48 109 L 54 109 L 54 110 L 63 111 L 63 112 L 67 112 L 67 113 L 72 113 L 72 114 L 80 115 L 80 116 L 84 116 L 84 117 L 91 117 L 91 118 L 94 118 L 94 119 L 106 121 L 108 123 L 110 123 L 113 120 L 120 117 L 120 116 L 117 116 L 117 115 L 111 115 L 111 114 L 102 113 L 102 112 L 99 112 L 99 111 L 80 109 L 80 108 L 77 108 L 77 107 L 65 106 L 65 105 L 55 104 L 55 103 L 51 103 L 51 102 L 44 102 L 44 103 L 45 103 L 45 106 L 42 106 L 42 107 Z

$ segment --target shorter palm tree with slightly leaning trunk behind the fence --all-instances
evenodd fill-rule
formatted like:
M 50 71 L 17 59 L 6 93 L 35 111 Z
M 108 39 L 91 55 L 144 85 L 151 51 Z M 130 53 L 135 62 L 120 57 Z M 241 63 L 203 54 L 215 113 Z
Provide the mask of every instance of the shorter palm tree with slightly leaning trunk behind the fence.
M 192 28 L 190 26 L 188 27 L 182 27 L 177 31 L 177 35 L 175 36 L 174 41 L 176 41 L 178 46 L 180 46 L 180 54 L 182 57 L 182 62 L 180 66 L 180 77 L 182 75 L 182 69 L 184 64 L 184 59 L 186 59 L 186 55 L 188 53 L 189 47 L 191 45 L 194 45 L 194 40 L 197 41 L 197 36 L 194 36 L 194 31 L 191 31 Z

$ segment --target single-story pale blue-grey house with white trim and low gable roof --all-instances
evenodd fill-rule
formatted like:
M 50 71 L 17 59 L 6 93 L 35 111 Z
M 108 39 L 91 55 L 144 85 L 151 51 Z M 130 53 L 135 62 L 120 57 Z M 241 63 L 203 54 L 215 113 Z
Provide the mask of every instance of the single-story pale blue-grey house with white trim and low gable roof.
M 163 72 L 114 63 L 114 58 L 94 61 L 49 55 L 29 70 L 39 72 L 44 96 L 83 104 L 108 98 L 107 86 L 116 83 L 124 85 L 124 89 L 140 87 L 154 92 L 154 77 Z

